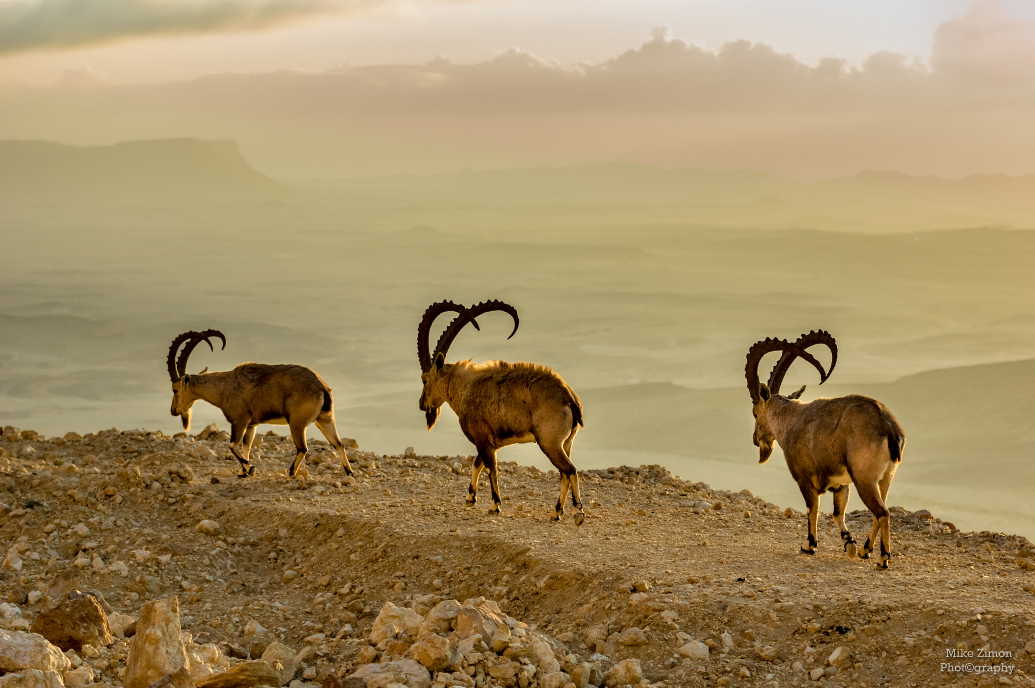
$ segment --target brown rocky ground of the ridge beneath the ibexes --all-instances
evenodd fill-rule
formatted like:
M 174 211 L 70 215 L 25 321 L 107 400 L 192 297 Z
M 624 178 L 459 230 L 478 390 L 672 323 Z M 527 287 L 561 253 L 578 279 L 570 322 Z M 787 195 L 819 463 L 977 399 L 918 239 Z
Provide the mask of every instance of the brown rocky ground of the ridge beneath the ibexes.
M 111 644 L 65 653 L 68 688 L 123 685 L 142 606 L 172 595 L 199 686 L 274 650 L 296 653 L 294 688 L 1035 685 L 1022 537 L 895 508 L 878 571 L 838 554 L 829 518 L 801 556 L 802 513 L 657 466 L 583 473 L 579 528 L 550 519 L 553 472 L 502 463 L 490 516 L 487 486 L 464 507 L 467 457 L 350 449 L 353 479 L 314 442 L 292 480 L 293 445 L 268 433 L 238 480 L 227 435 L 201 437 L 0 437 L 4 637 L 73 590 L 110 605 Z M 860 541 L 870 520 L 851 514 Z M 23 685 L 2 655 L 0 688 Z

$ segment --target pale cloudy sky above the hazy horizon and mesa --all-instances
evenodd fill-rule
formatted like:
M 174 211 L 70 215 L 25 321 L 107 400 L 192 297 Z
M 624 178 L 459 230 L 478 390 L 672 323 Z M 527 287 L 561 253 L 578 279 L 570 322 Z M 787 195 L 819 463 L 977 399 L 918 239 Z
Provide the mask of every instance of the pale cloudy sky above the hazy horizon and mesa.
M 0 0 L 0 139 L 278 177 L 604 160 L 1035 173 L 1022 0 Z

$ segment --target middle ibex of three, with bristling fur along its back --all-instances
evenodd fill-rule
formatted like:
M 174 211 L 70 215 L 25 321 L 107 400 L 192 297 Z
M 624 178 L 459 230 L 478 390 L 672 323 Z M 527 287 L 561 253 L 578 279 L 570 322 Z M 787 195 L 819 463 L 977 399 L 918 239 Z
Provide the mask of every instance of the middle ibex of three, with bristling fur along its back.
M 496 452 L 511 444 L 535 442 L 561 474 L 561 493 L 554 507 L 554 520 L 564 513 L 564 501 L 571 488 L 571 504 L 575 509 L 575 525 L 586 520 L 579 492 L 579 473 L 571 462 L 571 443 L 583 425 L 582 401 L 570 387 L 544 365 L 470 360 L 446 363 L 449 345 L 467 323 L 478 327 L 475 318 L 493 310 L 509 313 L 518 331 L 518 311 L 500 301 L 485 301 L 471 308 L 450 301 L 433 303 L 424 311 L 417 327 L 417 358 L 420 361 L 423 391 L 420 410 L 424 412 L 427 429 L 435 426 L 443 403 L 448 403 L 460 418 L 461 429 L 478 450 L 471 469 L 467 505 L 474 506 L 478 497 L 478 476 L 489 469 L 493 490 L 493 508 L 500 513 L 500 486 L 496 468 Z M 428 332 L 435 319 L 446 311 L 459 313 L 439 337 L 432 354 L 427 346 Z M 507 337 L 508 339 L 510 337 Z

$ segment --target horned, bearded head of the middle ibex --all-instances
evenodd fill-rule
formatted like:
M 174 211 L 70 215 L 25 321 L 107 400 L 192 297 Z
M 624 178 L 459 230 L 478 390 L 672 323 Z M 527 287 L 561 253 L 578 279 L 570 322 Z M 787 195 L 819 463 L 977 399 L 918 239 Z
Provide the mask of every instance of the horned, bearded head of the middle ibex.
M 510 313 L 510 317 L 514 319 L 514 329 L 507 337 L 509 339 L 518 331 L 518 311 L 513 306 L 502 301 L 484 301 L 471 308 L 457 305 L 452 301 L 439 301 L 427 306 L 427 310 L 424 311 L 424 317 L 420 320 L 420 325 L 417 326 L 417 360 L 420 361 L 420 381 L 423 383 L 423 389 L 420 392 L 420 410 L 424 412 L 427 429 L 435 426 L 442 405 L 448 399 L 448 381 L 454 367 L 453 364 L 446 363 L 449 345 L 468 323 L 474 325 L 474 329 L 480 329 L 475 318 L 493 310 Z M 446 311 L 455 312 L 457 316 L 439 337 L 433 354 L 428 347 L 432 324 L 436 318 Z

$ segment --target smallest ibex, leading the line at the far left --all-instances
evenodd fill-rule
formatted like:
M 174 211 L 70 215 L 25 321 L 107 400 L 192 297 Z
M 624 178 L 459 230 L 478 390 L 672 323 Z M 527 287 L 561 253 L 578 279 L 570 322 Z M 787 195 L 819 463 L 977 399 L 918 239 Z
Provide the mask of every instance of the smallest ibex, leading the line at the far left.
M 169 347 L 167 363 L 173 383 L 173 406 L 169 412 L 180 417 L 184 430 L 190 429 L 190 407 L 198 399 L 208 401 L 221 411 L 230 423 L 230 451 L 241 463 L 238 477 L 246 478 L 256 471 L 248 463 L 256 426 L 261 423 L 288 425 L 297 450 L 295 460 L 288 470 L 288 474 L 294 477 L 308 451 L 305 428 L 309 423 L 316 423 L 341 457 L 345 472 L 352 475 L 345 445 L 334 427 L 331 389 L 320 376 L 301 365 L 262 363 L 241 363 L 225 372 L 209 372 L 206 367 L 198 375 L 187 375 L 190 352 L 202 341 L 211 349 L 210 337 L 219 337 L 223 348 L 227 348 L 227 338 L 218 330 L 184 332 Z M 183 351 L 177 359 L 181 345 Z

